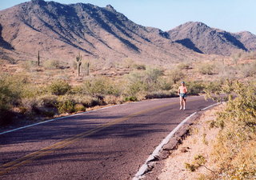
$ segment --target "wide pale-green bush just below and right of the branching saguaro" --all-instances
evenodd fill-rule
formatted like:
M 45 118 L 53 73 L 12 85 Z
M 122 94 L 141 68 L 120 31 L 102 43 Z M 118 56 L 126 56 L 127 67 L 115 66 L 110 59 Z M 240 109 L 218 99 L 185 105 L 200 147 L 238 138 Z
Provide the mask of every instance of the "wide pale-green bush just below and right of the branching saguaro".
M 121 91 L 118 85 L 115 84 L 110 78 L 98 77 L 87 79 L 82 84 L 83 94 L 89 94 L 92 96 L 114 94 L 118 95 Z

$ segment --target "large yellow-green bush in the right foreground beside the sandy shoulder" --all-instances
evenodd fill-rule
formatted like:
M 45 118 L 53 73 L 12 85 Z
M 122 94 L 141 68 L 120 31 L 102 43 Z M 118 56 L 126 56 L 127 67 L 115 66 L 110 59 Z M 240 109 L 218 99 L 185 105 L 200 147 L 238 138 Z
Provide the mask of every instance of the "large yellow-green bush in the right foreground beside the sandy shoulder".
M 229 96 L 214 122 L 221 128 L 214 144 L 218 176 L 254 179 L 256 175 L 256 84 L 226 82 L 221 93 Z M 231 94 L 235 94 L 233 98 Z M 217 171 L 216 171 L 217 172 Z

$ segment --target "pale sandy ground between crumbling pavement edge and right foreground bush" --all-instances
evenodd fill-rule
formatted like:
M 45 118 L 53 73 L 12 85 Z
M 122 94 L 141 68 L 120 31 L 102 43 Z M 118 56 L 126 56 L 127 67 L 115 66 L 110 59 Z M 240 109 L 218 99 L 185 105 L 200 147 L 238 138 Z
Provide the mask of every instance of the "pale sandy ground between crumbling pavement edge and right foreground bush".
M 214 170 L 214 162 L 210 161 L 212 144 L 216 140 L 219 129 L 210 129 L 210 121 L 216 118 L 216 112 L 221 110 L 223 105 L 206 110 L 191 126 L 190 135 L 178 146 L 177 150 L 171 150 L 170 157 L 165 160 L 165 166 L 158 180 L 194 180 L 202 174 L 211 174 Z M 185 164 L 194 162 L 194 157 L 202 155 L 206 158 L 205 166 L 191 172 L 186 169 Z M 210 170 L 207 170 L 210 169 Z

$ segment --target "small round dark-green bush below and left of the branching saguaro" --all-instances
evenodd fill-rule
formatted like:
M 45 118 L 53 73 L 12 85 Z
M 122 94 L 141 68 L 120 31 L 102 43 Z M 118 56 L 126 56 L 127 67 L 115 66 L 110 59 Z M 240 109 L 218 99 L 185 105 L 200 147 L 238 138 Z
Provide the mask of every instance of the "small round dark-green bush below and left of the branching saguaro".
M 69 90 L 71 90 L 71 86 L 68 82 L 62 81 L 62 80 L 56 80 L 48 86 L 48 90 L 51 94 L 54 95 L 64 95 Z

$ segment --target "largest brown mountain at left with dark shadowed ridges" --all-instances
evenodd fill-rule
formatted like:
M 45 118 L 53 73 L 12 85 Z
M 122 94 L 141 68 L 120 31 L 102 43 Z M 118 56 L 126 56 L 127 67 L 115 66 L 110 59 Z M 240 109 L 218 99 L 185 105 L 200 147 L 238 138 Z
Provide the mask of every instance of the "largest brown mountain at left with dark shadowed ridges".
M 139 26 L 112 6 L 63 5 L 33 0 L 0 11 L 2 39 L 16 52 L 34 57 L 70 59 L 79 51 L 88 58 L 172 62 L 192 50 L 170 43 L 166 33 Z M 25 56 L 24 56 L 25 57 Z

